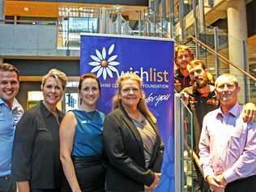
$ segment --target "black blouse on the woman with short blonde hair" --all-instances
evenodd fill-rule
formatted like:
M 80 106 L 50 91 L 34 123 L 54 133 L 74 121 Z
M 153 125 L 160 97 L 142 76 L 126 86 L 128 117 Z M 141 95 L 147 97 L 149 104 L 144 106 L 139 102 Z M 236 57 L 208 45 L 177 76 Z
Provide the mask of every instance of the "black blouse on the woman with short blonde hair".
M 58 120 L 64 114 L 58 111 Z M 14 181 L 29 181 L 31 189 L 58 189 L 62 181 L 59 125 L 41 102 L 17 124 L 12 157 Z

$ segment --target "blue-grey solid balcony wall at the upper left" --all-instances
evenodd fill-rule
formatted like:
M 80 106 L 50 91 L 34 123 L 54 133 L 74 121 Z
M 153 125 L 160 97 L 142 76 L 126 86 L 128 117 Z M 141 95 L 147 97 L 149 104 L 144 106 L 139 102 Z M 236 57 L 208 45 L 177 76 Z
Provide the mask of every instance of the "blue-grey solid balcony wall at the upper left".
M 1 20 L 2 55 L 65 56 L 57 49 L 57 20 Z

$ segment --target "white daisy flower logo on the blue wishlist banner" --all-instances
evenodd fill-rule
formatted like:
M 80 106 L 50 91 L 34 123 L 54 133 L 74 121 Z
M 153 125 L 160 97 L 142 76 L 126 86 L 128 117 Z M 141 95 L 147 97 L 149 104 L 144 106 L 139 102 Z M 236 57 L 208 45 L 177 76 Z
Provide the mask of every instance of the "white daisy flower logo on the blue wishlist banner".
M 90 66 L 95 66 L 92 68 L 91 72 L 94 73 L 97 72 L 97 78 L 100 77 L 100 75 L 103 75 L 103 79 L 107 78 L 107 75 L 109 77 L 113 78 L 113 72 L 117 72 L 117 69 L 114 66 L 118 66 L 120 62 L 115 62 L 114 60 L 117 58 L 117 54 L 111 56 L 111 53 L 113 53 L 115 45 L 111 45 L 109 47 L 108 51 L 108 60 L 107 58 L 107 53 L 105 47 L 103 47 L 101 53 L 98 49 L 96 49 L 96 55 L 91 55 L 91 58 L 93 62 L 89 62 Z

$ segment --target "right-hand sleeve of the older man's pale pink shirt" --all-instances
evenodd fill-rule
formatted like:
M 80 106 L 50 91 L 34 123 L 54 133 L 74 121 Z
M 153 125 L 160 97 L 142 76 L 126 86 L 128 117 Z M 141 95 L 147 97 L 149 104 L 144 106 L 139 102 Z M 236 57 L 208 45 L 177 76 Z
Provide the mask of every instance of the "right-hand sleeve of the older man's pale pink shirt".
M 256 167 L 256 123 L 247 128 L 245 149 L 230 169 L 224 171 L 223 176 L 227 182 L 242 177 L 250 177 Z

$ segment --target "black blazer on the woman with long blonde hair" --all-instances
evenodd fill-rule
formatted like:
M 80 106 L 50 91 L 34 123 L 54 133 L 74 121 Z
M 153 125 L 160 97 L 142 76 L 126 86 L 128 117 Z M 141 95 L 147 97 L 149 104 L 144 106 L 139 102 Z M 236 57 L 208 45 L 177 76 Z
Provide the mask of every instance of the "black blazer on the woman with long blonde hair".
M 154 181 L 154 172 L 160 173 L 164 146 L 158 134 L 156 123 L 156 144 L 149 168 L 145 168 L 143 141 L 125 109 L 115 109 L 105 117 L 103 138 L 105 154 L 108 157 L 106 190 L 136 192 L 143 191 Z

